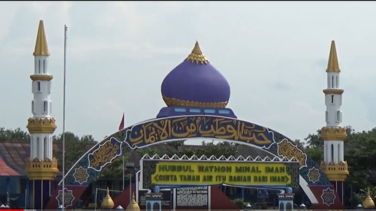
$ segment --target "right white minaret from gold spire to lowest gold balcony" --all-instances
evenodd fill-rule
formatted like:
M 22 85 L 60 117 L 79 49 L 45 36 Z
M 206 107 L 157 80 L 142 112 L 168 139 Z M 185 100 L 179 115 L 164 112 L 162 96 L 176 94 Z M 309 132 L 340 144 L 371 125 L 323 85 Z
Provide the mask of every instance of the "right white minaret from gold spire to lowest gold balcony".
M 330 181 L 344 181 L 347 171 L 347 162 L 343 158 L 343 141 L 347 137 L 346 128 L 342 123 L 342 94 L 340 89 L 340 68 L 338 65 L 337 50 L 332 41 L 329 61 L 326 69 L 327 88 L 325 94 L 325 121 L 326 126 L 321 128 L 321 137 L 324 140 L 324 161 L 321 168 Z

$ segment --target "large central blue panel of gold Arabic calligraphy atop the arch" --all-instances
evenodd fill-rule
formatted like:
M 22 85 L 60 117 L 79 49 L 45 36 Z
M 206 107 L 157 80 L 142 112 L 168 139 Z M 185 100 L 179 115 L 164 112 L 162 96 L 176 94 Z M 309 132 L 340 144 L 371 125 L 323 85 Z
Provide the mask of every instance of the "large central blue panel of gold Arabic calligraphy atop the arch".
M 187 138 L 239 141 L 265 149 L 275 143 L 273 132 L 263 126 L 209 115 L 160 118 L 136 124 L 128 131 L 125 141 L 135 148 Z

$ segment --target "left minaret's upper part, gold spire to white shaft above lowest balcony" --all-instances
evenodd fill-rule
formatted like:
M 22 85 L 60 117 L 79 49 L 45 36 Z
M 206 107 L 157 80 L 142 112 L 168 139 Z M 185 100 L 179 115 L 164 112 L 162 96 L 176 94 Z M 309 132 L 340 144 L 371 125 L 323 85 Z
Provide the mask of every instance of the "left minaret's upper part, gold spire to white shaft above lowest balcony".
M 34 71 L 32 80 L 33 100 L 31 110 L 33 125 L 27 128 L 30 132 L 30 159 L 38 158 L 43 161 L 52 160 L 52 134 L 56 129 L 55 119 L 52 118 L 52 102 L 50 100 L 52 75 L 49 74 L 48 58 L 50 56 L 44 32 L 43 21 L 39 21 L 38 34 L 34 50 Z M 38 121 L 35 121 L 38 120 Z M 40 121 L 40 124 L 37 123 Z M 53 121 L 53 125 L 52 122 Z

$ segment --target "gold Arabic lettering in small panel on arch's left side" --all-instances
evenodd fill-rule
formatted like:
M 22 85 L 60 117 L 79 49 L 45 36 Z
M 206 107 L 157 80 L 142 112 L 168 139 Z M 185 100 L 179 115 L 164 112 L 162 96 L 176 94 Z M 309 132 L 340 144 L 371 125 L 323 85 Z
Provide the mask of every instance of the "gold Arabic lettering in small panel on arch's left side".
M 90 166 L 93 168 L 103 166 L 105 163 L 110 162 L 111 159 L 115 157 L 118 150 L 119 146 L 117 144 L 107 142 L 105 145 L 100 146 L 100 148 L 93 153 L 93 157 L 90 161 Z

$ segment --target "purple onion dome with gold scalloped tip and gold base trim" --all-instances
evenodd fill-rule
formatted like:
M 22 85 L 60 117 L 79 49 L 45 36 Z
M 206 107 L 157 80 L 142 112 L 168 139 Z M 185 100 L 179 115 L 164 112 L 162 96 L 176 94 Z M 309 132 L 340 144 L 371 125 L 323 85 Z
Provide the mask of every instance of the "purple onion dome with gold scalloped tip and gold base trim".
M 161 91 L 167 106 L 224 108 L 230 99 L 229 83 L 197 42 L 192 53 L 164 78 Z

